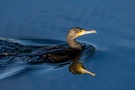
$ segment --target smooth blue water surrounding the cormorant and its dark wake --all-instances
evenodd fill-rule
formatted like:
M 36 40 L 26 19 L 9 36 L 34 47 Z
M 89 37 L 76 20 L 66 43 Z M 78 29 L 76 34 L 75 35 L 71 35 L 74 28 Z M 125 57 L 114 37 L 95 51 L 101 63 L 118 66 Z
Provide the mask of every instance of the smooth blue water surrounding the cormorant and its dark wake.
M 135 90 L 134 0 L 0 0 L 0 37 L 65 40 L 71 27 L 98 33 L 78 41 L 97 48 L 84 63 L 90 75 L 68 66 L 24 73 L 0 81 L 0 90 Z

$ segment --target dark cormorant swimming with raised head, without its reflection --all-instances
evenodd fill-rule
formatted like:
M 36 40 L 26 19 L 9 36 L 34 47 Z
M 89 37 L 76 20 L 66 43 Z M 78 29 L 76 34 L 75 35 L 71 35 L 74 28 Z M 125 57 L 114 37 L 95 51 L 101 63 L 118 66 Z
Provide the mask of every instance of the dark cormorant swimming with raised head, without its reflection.
M 84 34 L 96 33 L 95 30 L 86 31 L 83 28 L 75 27 L 68 31 L 67 33 L 67 43 L 69 47 L 59 47 L 56 51 L 45 53 L 42 55 L 43 58 L 48 59 L 48 62 L 65 62 L 68 60 L 73 60 L 76 56 L 79 56 L 80 52 L 83 50 L 83 47 L 75 39 Z

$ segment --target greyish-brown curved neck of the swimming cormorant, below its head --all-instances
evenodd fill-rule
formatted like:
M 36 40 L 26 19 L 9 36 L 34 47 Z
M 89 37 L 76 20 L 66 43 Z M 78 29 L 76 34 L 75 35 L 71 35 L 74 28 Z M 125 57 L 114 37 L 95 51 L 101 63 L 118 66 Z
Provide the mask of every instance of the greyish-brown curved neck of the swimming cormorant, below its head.
M 67 42 L 71 48 L 76 50 L 82 50 L 82 46 L 74 38 L 67 37 Z

